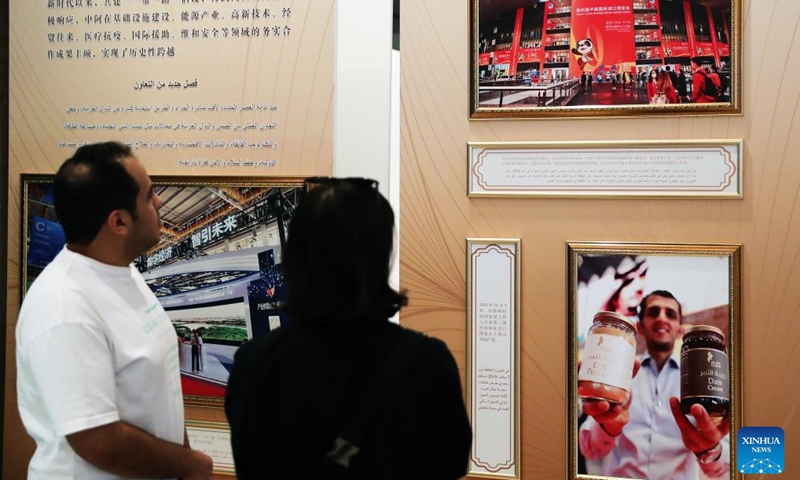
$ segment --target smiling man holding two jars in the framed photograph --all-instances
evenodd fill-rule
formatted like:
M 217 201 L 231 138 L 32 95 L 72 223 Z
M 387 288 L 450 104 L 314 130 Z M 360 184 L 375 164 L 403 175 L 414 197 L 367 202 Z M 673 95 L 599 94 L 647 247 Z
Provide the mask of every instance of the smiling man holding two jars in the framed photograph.
M 647 351 L 636 361 L 631 397 L 624 405 L 583 402 L 589 418 L 581 425 L 579 446 L 589 460 L 600 460 L 602 474 L 649 480 L 695 480 L 730 475 L 728 417 L 715 422 L 701 405 L 681 412 L 681 305 L 672 293 L 656 290 L 642 299 L 638 329 Z

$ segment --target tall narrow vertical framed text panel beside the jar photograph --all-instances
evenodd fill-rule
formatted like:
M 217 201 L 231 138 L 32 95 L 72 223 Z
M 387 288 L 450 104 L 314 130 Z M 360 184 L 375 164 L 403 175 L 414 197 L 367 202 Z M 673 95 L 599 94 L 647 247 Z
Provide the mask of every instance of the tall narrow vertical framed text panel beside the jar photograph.
M 521 478 L 520 240 L 467 239 L 467 475 Z

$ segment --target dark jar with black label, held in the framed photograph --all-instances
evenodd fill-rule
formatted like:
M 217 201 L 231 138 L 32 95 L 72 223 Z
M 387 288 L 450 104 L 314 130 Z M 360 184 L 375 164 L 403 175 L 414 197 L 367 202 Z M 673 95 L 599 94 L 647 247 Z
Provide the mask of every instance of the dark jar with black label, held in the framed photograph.
M 725 335 L 711 325 L 686 328 L 681 347 L 681 410 L 702 405 L 719 423 L 730 411 L 730 382 Z

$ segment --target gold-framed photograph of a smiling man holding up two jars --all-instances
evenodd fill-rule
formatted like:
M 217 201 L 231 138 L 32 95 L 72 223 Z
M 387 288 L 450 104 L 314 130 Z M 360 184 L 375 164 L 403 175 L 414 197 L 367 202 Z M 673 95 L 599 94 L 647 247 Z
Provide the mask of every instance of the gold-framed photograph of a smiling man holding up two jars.
M 568 243 L 570 479 L 740 479 L 740 245 Z

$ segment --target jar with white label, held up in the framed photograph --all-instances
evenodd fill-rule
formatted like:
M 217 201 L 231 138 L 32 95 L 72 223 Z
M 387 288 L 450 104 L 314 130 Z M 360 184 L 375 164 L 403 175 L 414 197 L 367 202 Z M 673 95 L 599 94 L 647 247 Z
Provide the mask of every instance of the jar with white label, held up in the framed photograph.
M 615 312 L 598 312 L 583 345 L 578 396 L 625 404 L 636 360 L 636 324 Z

